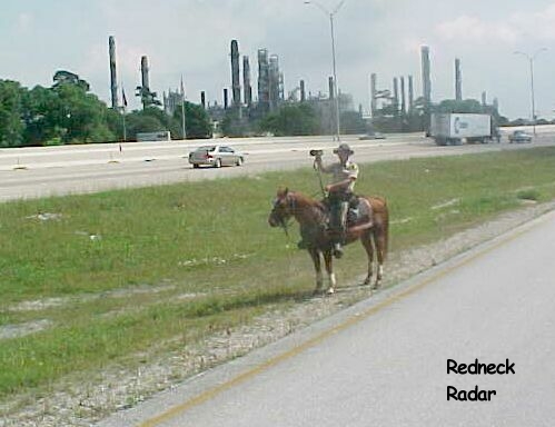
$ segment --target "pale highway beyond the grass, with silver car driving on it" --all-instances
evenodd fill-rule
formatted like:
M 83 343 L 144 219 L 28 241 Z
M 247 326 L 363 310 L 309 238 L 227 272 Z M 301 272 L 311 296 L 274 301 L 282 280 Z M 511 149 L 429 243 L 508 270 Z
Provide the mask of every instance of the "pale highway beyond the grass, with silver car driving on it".
M 386 140 L 344 140 L 356 151 L 356 161 L 450 156 L 555 143 L 553 133 L 542 133 L 533 145 L 437 147 L 420 133 L 392 135 Z M 221 140 L 247 152 L 241 168 L 192 170 L 186 156 L 199 145 L 214 141 L 133 142 L 0 149 L 0 201 L 49 195 L 151 186 L 188 180 L 256 175 L 311 163 L 310 148 L 324 148 L 328 159 L 337 146 L 330 137 L 254 138 Z

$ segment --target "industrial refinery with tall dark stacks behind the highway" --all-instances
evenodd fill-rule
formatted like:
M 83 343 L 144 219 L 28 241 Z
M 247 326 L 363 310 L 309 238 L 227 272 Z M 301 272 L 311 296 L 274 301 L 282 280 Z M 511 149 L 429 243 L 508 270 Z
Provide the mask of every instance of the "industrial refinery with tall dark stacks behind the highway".
M 111 107 L 119 108 L 116 40 L 109 37 L 109 67 Z M 225 54 L 222 52 L 222 54 Z M 280 68 L 279 56 L 267 48 L 259 48 L 256 52 L 257 64 L 251 66 L 251 58 L 240 52 L 239 41 L 231 40 L 229 47 L 230 79 L 221 90 L 221 101 L 207 99 L 206 91 L 200 92 L 200 105 L 208 112 L 215 126 L 224 120 L 231 122 L 231 128 L 237 135 L 248 133 L 249 123 L 256 122 L 266 116 L 276 112 L 283 105 L 307 102 L 320 119 L 320 129 L 331 132 L 336 126 L 335 93 L 338 97 L 339 113 L 356 112 L 353 96 L 335 88 L 334 77 L 327 78 L 328 91 L 313 93 L 307 90 L 307 82 L 301 79 L 293 83 L 286 91 L 285 73 Z M 408 131 L 429 129 L 432 112 L 432 64 L 430 49 L 420 48 L 422 67 L 422 96 L 415 93 L 415 79 L 410 73 L 390 78 L 390 86 L 380 83 L 377 73 L 369 75 L 369 102 L 366 108 L 358 106 L 358 115 L 365 120 L 367 128 L 378 127 L 389 131 Z M 252 69 L 257 70 L 256 82 Z M 242 75 L 241 75 L 242 72 Z M 463 100 L 462 60 L 455 58 L 454 99 Z M 140 98 L 142 108 L 162 106 L 163 111 L 174 115 L 186 100 L 184 81 L 180 88 L 162 93 L 161 101 L 158 95 L 151 91 L 149 61 L 147 56 L 140 58 L 141 83 L 136 87 L 135 95 Z M 337 89 L 337 91 L 336 91 Z M 254 95 L 255 92 L 255 95 Z M 486 93 L 482 93 L 482 105 L 486 106 Z M 497 101 L 494 100 L 497 109 Z

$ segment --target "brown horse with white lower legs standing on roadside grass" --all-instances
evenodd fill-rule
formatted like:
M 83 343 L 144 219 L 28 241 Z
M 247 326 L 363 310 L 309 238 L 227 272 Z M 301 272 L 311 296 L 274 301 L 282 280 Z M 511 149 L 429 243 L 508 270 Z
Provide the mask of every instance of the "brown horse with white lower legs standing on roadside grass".
M 368 257 L 368 272 L 364 281 L 369 285 L 373 277 L 374 247 L 377 252 L 377 275 L 371 289 L 381 285 L 384 261 L 387 254 L 389 214 L 387 201 L 381 197 L 359 197 L 358 210 L 361 215 L 347 222 L 345 244 L 360 239 Z M 315 294 L 321 290 L 324 278 L 321 274 L 321 257 L 326 264 L 329 286 L 327 294 L 335 292 L 337 285 L 333 265 L 331 230 L 328 229 L 329 209 L 325 202 L 311 199 L 300 192 L 279 189 L 268 217 L 270 227 L 283 227 L 287 232 L 287 221 L 294 217 L 300 226 L 303 240 L 316 270 Z

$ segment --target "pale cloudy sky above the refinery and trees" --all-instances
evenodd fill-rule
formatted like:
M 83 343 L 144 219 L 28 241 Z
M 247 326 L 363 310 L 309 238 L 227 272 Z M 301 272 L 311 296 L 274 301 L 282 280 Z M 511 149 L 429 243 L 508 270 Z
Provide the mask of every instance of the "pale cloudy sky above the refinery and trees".
M 257 50 L 278 54 L 286 92 L 304 79 L 327 92 L 331 76 L 329 16 L 304 0 L 2 0 L 0 79 L 50 87 L 57 70 L 72 71 L 109 103 L 108 37 L 116 38 L 119 86 L 131 108 L 147 56 L 159 97 L 184 76 L 187 99 L 222 103 L 231 86 L 230 42 L 250 57 L 256 95 Z M 339 0 L 318 0 L 334 10 Z M 529 61 L 534 54 L 536 113 L 555 117 L 555 0 L 345 0 L 335 14 L 339 89 L 369 105 L 369 75 L 378 89 L 413 75 L 422 95 L 420 47 L 429 46 L 432 97 L 455 97 L 459 58 L 463 97 L 497 98 L 501 113 L 531 117 Z M 241 67 L 242 67 L 242 60 Z M 241 79 L 242 81 L 242 79 Z

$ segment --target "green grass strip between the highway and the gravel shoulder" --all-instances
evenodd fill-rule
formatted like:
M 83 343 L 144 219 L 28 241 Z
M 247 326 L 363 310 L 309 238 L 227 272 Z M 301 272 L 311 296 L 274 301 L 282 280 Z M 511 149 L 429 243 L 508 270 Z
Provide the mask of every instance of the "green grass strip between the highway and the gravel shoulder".
M 388 199 L 394 251 L 555 198 L 555 148 L 360 167 L 357 192 Z M 306 168 L 0 205 L 0 328 L 48 325 L 0 339 L 0 398 L 133 364 L 145 348 L 182 346 L 309 295 L 297 236 L 267 225 L 279 186 L 319 187 Z M 348 280 L 365 264 L 349 248 L 337 268 Z

